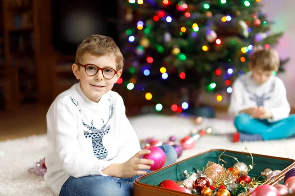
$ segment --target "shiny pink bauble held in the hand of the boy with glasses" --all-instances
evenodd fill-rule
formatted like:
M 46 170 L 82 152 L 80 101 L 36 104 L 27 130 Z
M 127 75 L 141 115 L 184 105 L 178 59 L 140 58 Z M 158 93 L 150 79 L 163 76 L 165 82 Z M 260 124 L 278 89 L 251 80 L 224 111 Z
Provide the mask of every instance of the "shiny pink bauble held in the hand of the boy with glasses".
M 150 159 L 154 161 L 153 165 L 150 165 L 150 170 L 158 170 L 162 168 L 166 162 L 166 154 L 160 147 L 149 147 L 150 154 L 144 154 L 143 159 Z

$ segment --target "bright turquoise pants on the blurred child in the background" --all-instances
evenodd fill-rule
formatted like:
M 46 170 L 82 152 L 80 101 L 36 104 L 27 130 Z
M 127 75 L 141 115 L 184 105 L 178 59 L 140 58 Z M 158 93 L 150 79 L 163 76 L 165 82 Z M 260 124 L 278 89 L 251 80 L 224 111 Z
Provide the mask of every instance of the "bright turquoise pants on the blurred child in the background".
M 295 115 L 269 123 L 267 120 L 251 118 L 248 114 L 239 114 L 236 116 L 235 126 L 241 133 L 260 134 L 263 140 L 290 138 L 295 134 Z

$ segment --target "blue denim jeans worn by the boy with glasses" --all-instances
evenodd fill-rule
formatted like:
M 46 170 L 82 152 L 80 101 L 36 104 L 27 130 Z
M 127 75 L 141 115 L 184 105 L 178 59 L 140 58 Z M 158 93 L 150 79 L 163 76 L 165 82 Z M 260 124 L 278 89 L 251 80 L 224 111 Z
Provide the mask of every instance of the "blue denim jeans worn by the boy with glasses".
M 177 153 L 170 145 L 160 146 L 166 154 L 164 166 L 175 163 Z M 150 170 L 146 170 L 151 172 Z M 112 176 L 85 176 L 75 178 L 70 176 L 62 185 L 60 196 L 133 196 L 133 181 L 140 177 L 120 178 Z

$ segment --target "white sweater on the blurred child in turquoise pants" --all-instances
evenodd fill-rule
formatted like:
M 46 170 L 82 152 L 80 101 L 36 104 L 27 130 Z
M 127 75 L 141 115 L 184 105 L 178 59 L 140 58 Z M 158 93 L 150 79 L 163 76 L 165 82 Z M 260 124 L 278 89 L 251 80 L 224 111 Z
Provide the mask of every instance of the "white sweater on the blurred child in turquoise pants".
M 263 106 L 272 113 L 273 118 L 268 119 L 269 122 L 287 118 L 290 113 L 290 104 L 283 81 L 272 75 L 259 86 L 251 75 L 252 72 L 248 72 L 238 77 L 233 83 L 229 113 L 236 116 L 243 109 Z

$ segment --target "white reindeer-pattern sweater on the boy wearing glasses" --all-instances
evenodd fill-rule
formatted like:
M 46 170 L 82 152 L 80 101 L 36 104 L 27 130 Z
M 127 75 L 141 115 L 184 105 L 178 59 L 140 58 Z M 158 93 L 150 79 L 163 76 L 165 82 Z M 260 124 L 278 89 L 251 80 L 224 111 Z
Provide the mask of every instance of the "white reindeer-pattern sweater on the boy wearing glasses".
M 46 117 L 44 178 L 56 195 L 70 176 L 105 175 L 102 170 L 112 163 L 123 163 L 141 150 L 116 92 L 95 103 L 74 84 L 54 100 Z

